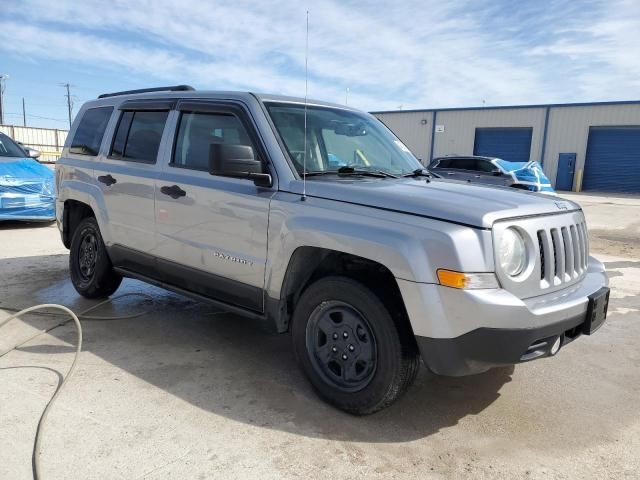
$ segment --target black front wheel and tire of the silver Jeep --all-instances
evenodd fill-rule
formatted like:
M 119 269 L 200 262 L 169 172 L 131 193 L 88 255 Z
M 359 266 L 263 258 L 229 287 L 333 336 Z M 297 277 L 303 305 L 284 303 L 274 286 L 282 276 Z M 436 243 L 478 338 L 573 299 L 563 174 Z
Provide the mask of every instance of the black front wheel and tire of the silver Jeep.
M 415 339 L 402 325 L 361 283 L 326 277 L 307 288 L 296 305 L 293 350 L 325 401 L 368 415 L 395 402 L 418 372 Z

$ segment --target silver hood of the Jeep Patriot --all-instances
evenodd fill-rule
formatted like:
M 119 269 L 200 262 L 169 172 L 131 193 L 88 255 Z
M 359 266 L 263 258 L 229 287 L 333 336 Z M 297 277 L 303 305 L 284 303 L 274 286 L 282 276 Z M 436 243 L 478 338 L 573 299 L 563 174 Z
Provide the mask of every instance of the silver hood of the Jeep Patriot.
M 292 182 L 291 191 L 302 192 L 302 182 Z M 307 195 L 371 207 L 406 212 L 430 218 L 491 228 L 497 220 L 548 215 L 580 210 L 569 200 L 546 195 L 452 180 L 340 179 L 317 177 L 307 180 Z

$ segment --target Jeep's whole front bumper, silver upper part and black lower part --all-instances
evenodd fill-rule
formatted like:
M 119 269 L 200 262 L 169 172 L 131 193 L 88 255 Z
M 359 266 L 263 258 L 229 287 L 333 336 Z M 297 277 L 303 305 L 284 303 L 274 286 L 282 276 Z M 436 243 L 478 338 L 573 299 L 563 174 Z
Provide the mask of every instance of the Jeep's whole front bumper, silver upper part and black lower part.
M 469 375 L 548 356 L 583 333 L 589 295 L 608 284 L 589 259 L 578 284 L 521 300 L 505 290 L 456 290 L 398 280 L 425 364 L 440 375 Z

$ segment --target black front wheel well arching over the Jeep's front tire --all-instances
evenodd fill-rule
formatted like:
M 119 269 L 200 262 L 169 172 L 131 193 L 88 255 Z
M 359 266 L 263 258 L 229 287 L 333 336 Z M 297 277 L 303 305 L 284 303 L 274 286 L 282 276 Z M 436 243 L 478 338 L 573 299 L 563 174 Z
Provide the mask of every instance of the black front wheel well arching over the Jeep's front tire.
M 413 329 L 402 300 L 400 288 L 391 271 L 381 263 L 349 253 L 316 247 L 300 247 L 293 253 L 280 292 L 278 331 L 289 329 L 294 307 L 305 289 L 323 277 L 345 276 L 373 291 L 389 309 L 400 333 Z

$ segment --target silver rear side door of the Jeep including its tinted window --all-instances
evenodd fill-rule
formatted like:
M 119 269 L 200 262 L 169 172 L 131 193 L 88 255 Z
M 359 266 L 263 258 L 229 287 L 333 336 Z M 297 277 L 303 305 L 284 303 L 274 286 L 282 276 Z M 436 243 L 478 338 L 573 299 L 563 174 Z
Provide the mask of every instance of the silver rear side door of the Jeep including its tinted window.
M 102 189 L 116 266 L 153 273 L 158 152 L 175 102 L 129 101 L 119 108 L 108 155 L 94 171 Z

